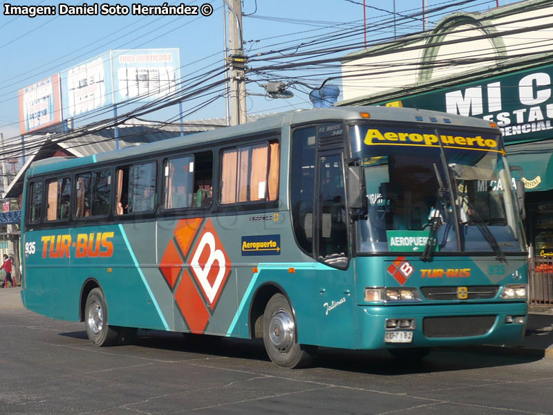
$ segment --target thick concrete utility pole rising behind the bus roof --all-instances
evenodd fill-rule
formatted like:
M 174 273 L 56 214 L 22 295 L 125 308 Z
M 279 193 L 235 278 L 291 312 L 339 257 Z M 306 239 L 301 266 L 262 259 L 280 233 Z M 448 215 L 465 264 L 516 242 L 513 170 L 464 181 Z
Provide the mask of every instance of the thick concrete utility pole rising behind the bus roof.
M 237 125 L 247 122 L 242 4 L 241 0 L 226 1 L 229 6 L 230 124 Z

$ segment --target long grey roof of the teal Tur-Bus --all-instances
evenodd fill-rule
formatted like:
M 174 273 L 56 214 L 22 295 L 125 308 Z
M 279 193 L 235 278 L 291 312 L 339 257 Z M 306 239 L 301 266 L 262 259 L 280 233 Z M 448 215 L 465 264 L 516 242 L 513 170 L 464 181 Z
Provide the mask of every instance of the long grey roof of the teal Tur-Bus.
M 362 118 L 360 113 L 369 113 L 370 118 Z M 433 120 L 431 120 L 433 118 Z M 396 122 L 433 122 L 449 126 L 474 128 L 490 128 L 487 120 L 465 116 L 457 116 L 439 111 L 398 107 L 332 107 L 325 109 L 298 109 L 286 111 L 274 116 L 260 118 L 254 122 L 190 134 L 185 137 L 168 138 L 158 142 L 150 142 L 124 149 L 108 151 L 95 156 L 79 158 L 46 158 L 32 163 L 28 175 L 53 172 L 71 167 L 79 167 L 119 158 L 155 154 L 160 151 L 179 149 L 183 145 L 195 147 L 206 142 L 225 140 L 233 137 L 247 136 L 260 131 L 276 131 L 283 124 L 308 124 L 311 122 L 332 122 L 335 120 L 379 120 Z M 447 120 L 447 121 L 446 121 Z M 185 141 L 183 141 L 183 139 Z

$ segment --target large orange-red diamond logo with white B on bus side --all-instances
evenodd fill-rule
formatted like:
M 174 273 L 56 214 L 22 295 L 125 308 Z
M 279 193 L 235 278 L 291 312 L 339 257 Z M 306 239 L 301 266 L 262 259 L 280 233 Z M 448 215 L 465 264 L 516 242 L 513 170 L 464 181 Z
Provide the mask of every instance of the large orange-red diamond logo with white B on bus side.
M 203 225 L 203 227 L 202 227 Z M 231 262 L 207 219 L 182 219 L 162 258 L 160 271 L 189 328 L 205 330 L 230 275 Z M 194 246 L 191 246 L 196 241 Z M 178 247 L 178 248 L 177 248 Z M 189 270 L 182 270 L 189 258 Z

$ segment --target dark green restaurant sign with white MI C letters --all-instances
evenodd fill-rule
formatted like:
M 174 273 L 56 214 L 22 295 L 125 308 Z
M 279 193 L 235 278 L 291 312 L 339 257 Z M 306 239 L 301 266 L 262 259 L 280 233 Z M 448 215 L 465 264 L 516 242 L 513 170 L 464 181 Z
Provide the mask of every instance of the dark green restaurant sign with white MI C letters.
M 403 107 L 494 121 L 506 143 L 543 140 L 553 129 L 553 65 L 402 98 Z M 393 104 L 393 103 L 388 103 Z

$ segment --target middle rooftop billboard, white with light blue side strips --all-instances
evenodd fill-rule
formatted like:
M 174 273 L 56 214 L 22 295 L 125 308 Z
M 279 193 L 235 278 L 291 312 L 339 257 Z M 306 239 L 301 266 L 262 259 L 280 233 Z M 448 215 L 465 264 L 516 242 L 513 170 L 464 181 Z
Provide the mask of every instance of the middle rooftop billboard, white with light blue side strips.
M 111 53 L 62 71 L 63 118 L 74 118 L 113 104 Z

